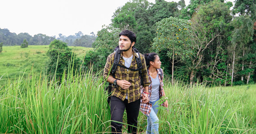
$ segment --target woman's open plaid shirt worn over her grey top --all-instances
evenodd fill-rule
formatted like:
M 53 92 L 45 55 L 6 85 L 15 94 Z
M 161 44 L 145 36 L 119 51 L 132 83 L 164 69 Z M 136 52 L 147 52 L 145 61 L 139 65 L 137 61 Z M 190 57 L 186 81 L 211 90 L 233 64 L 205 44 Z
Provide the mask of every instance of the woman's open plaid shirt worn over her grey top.
M 163 96 L 163 90 L 164 90 L 163 86 L 164 86 L 164 83 L 163 83 L 163 77 L 161 79 L 161 76 L 160 76 L 160 74 L 161 74 L 160 69 L 157 69 L 157 73 L 158 73 L 158 79 L 160 80 L 159 97 L 161 98 Z M 162 76 L 163 76 L 163 74 L 162 74 Z M 150 85 L 148 86 L 148 98 L 150 100 L 151 93 L 152 93 L 152 80 L 149 77 L 149 74 L 148 74 L 148 78 L 149 78 L 149 83 L 150 83 Z M 142 90 L 141 90 L 141 93 L 143 93 L 143 92 L 144 92 L 144 88 L 142 88 Z M 161 104 L 161 105 L 163 105 L 163 104 Z M 152 109 L 152 104 L 151 103 L 149 103 L 149 102 L 148 103 L 143 103 L 142 100 L 140 100 L 140 108 L 139 108 L 139 110 L 143 114 L 149 116 L 149 113 L 151 112 L 151 109 Z

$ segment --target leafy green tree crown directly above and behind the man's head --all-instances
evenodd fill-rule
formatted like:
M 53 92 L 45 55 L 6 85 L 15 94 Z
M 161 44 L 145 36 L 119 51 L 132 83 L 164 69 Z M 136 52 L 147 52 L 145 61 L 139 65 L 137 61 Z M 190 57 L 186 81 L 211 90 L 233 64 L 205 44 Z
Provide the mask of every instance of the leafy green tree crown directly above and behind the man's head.
M 152 44 L 152 27 L 148 24 L 148 8 L 150 4 L 147 0 L 132 0 L 127 2 L 123 7 L 116 10 L 112 16 L 112 26 L 123 30 L 129 29 L 136 34 L 137 42 L 135 47 L 140 53 L 148 52 Z

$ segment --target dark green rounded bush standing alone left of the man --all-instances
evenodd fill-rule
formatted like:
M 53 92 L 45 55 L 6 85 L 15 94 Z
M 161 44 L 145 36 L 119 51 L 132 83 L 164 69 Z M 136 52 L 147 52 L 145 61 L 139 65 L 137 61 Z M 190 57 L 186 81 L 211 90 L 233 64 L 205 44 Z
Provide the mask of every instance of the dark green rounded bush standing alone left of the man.
M 51 75 L 56 74 L 57 79 L 61 79 L 62 74 L 67 71 L 69 66 L 72 67 L 73 72 L 77 71 L 76 69 L 79 70 L 79 59 L 65 42 L 60 40 L 51 42 L 47 55 L 49 56 L 47 71 Z

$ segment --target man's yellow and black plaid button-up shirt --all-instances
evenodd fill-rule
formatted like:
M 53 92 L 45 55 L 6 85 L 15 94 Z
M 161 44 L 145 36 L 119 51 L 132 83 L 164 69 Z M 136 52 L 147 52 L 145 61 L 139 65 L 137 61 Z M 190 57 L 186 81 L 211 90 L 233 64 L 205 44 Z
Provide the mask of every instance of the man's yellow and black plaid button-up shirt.
M 132 69 L 138 68 L 135 56 L 138 57 L 138 55 L 133 50 L 133 58 L 132 58 L 131 65 L 130 65 L 130 68 L 132 68 Z M 114 59 L 115 59 L 115 52 L 108 55 L 108 59 L 107 59 L 107 62 L 106 62 L 105 68 L 104 68 L 104 73 L 103 73 L 103 77 L 105 79 L 108 79 L 108 74 L 109 74 L 109 76 L 112 76 L 111 70 L 112 70 L 112 64 L 114 63 Z M 141 59 L 141 63 L 142 63 L 142 76 L 143 76 L 142 79 L 144 82 L 144 87 L 147 87 L 147 86 L 149 86 L 150 83 L 149 83 L 148 75 L 147 75 L 146 61 L 144 59 L 143 54 L 140 54 L 140 59 Z M 123 59 L 122 53 L 121 53 L 121 57 L 119 60 L 119 64 L 125 66 L 125 60 Z M 116 96 L 119 99 L 121 99 L 122 101 L 124 101 L 126 98 L 126 93 L 127 93 L 128 94 L 128 103 L 139 100 L 139 98 L 141 96 L 141 93 L 140 93 L 141 82 L 140 82 L 139 77 L 140 77 L 139 71 L 131 71 L 131 70 L 127 71 L 126 68 L 117 66 L 117 70 L 115 72 L 115 78 L 118 80 L 127 80 L 128 82 L 130 82 L 131 85 L 128 89 L 123 89 L 118 85 L 116 87 L 114 87 L 114 85 L 112 84 L 112 96 Z

